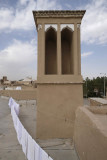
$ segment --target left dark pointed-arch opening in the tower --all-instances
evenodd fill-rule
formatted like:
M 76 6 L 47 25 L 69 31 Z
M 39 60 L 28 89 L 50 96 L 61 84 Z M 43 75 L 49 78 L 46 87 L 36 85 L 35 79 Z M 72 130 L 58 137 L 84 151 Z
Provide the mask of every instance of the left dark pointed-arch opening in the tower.
M 57 74 L 57 34 L 52 26 L 45 32 L 45 74 Z

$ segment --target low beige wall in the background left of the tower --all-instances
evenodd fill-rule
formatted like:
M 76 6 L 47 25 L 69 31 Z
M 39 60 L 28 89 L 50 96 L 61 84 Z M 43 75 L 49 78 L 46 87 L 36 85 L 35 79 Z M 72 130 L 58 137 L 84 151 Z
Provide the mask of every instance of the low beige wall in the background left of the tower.
M 13 97 L 16 100 L 35 100 L 36 99 L 36 89 L 35 90 L 1 90 L 0 96 Z

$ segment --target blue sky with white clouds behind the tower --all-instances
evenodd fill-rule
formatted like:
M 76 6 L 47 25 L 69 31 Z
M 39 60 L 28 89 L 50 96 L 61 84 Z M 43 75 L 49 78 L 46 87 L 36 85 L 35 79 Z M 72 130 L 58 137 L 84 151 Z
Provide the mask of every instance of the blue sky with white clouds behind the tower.
M 81 25 L 82 76 L 107 75 L 106 0 L 0 0 L 0 79 L 37 75 L 37 32 L 32 10 L 86 10 Z

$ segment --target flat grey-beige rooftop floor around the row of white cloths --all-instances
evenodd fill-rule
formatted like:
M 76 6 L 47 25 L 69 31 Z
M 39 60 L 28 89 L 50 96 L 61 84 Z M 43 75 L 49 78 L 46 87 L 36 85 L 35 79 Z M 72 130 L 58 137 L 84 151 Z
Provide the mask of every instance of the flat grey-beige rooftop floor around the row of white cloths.
M 19 118 L 33 139 L 53 160 L 79 160 L 72 139 L 36 139 L 36 101 L 20 100 Z M 8 99 L 0 98 L 0 158 L 2 160 L 25 160 L 17 140 Z

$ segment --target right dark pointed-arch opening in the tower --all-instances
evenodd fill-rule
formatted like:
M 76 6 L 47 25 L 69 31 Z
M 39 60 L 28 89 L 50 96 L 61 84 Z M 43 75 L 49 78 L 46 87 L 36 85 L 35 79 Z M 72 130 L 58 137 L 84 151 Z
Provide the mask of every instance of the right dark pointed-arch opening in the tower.
M 73 32 L 68 26 L 61 31 L 62 74 L 73 74 Z

